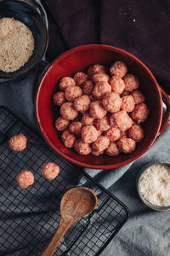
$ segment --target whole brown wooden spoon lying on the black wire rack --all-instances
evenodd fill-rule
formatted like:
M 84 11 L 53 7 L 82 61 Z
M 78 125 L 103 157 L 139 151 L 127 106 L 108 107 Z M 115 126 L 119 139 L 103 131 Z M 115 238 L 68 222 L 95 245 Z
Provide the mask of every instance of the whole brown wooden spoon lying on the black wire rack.
M 78 219 L 92 212 L 97 205 L 94 191 L 85 187 L 69 189 L 60 202 L 59 226 L 48 246 L 42 251 L 41 256 L 52 256 L 59 245 L 65 232 Z

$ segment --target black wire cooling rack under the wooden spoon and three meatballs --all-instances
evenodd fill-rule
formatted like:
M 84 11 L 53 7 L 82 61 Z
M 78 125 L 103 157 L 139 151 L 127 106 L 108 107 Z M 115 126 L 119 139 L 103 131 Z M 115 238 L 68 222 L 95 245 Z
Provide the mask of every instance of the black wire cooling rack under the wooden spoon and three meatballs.
M 8 139 L 19 133 L 26 135 L 27 147 L 14 152 L 8 147 Z M 59 176 L 53 181 L 41 175 L 48 161 L 60 166 Z M 20 170 L 34 173 L 31 187 L 17 186 L 15 178 Z M 98 206 L 66 232 L 54 255 L 99 255 L 125 224 L 127 207 L 82 169 L 60 159 L 42 137 L 0 107 L 0 255 L 37 256 L 59 224 L 62 195 L 77 185 L 93 189 Z

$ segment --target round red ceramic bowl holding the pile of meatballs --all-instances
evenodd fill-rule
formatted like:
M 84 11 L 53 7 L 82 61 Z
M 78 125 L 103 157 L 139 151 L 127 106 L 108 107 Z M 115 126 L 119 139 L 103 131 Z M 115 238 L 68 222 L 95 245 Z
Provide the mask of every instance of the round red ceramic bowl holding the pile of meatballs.
M 64 76 L 72 76 L 74 73 L 86 70 L 95 63 L 108 67 L 114 61 L 125 61 L 128 72 L 139 77 L 140 90 L 146 96 L 150 116 L 144 123 L 144 140 L 137 144 L 136 150 L 131 154 L 120 154 L 109 157 L 105 154 L 98 157 L 94 155 L 82 156 L 74 149 L 65 148 L 61 143 L 60 133 L 54 128 L 54 120 L 58 114 L 53 106 L 52 97 L 57 89 L 57 83 Z M 167 113 L 162 120 L 162 99 L 167 105 Z M 156 83 L 156 79 L 150 70 L 144 66 L 135 56 L 122 49 L 108 45 L 89 44 L 66 51 L 60 55 L 48 67 L 43 74 L 37 88 L 36 115 L 42 136 L 54 151 L 77 166 L 92 169 L 111 169 L 127 165 L 138 159 L 155 142 L 156 137 L 165 129 L 170 117 L 170 100 L 167 94 Z

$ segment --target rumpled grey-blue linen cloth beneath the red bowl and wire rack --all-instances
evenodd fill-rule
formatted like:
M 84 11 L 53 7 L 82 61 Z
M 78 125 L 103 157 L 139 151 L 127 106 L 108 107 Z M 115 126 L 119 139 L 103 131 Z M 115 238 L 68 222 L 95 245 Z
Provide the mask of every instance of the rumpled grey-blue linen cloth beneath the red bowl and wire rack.
M 44 63 L 39 68 L 44 68 Z M 0 82 L 0 105 L 11 109 L 34 129 L 37 129 L 34 118 L 36 87 L 37 70 L 22 79 Z M 127 223 L 101 255 L 170 255 L 170 214 L 168 211 L 156 212 L 144 206 L 137 195 L 135 183 L 139 170 L 145 164 L 152 161 L 169 162 L 169 154 L 170 126 L 168 125 L 150 150 L 133 163 L 114 170 L 85 170 L 124 202 L 130 210 Z

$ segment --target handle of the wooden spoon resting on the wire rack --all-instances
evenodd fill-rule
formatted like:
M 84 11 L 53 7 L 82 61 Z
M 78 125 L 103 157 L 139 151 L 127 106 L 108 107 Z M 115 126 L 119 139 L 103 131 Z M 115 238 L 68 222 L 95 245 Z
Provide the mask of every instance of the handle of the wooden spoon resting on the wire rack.
M 71 224 L 73 224 L 73 222 L 67 221 L 64 218 L 60 218 L 59 226 L 54 233 L 53 238 L 48 243 L 48 246 L 45 247 L 45 249 L 42 251 L 40 256 L 52 256 L 54 254 L 55 249 L 59 245 L 59 241 L 61 241 L 61 239 L 65 235 L 65 232 L 70 228 Z

